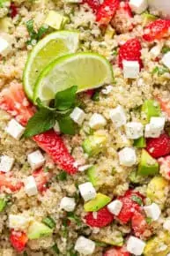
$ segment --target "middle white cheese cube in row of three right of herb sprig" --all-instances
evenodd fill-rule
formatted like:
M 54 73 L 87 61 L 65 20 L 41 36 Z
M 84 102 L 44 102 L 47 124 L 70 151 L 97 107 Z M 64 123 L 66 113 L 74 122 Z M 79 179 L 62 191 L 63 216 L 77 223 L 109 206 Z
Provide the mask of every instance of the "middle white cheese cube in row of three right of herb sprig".
M 138 139 L 143 136 L 144 126 L 139 122 L 129 122 L 125 125 L 125 131 L 128 139 Z

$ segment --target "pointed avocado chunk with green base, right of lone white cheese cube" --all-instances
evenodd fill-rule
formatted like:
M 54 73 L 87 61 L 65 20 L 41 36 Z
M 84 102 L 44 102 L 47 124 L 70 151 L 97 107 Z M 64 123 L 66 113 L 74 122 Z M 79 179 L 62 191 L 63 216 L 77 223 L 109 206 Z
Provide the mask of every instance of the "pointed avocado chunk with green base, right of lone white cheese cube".
M 146 150 L 142 150 L 137 174 L 142 176 L 155 175 L 159 172 L 159 163 Z

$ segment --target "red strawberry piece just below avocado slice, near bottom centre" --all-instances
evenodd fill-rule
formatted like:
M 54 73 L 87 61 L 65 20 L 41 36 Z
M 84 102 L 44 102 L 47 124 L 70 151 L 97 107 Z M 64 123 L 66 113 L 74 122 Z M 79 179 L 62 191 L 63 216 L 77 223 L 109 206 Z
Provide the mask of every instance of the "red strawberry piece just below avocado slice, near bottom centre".
M 96 213 L 88 213 L 85 216 L 85 223 L 91 227 L 103 228 L 114 221 L 114 215 L 112 215 L 107 207 L 100 209 Z

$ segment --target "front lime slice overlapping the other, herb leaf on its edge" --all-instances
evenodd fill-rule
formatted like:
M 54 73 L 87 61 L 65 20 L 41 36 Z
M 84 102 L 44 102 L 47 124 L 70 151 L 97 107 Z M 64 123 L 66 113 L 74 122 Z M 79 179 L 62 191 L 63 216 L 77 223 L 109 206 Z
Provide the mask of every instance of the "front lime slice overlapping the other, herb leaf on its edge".
M 95 53 L 62 56 L 49 64 L 37 80 L 34 101 L 48 102 L 55 94 L 72 86 L 78 92 L 113 82 L 113 68 L 107 59 Z

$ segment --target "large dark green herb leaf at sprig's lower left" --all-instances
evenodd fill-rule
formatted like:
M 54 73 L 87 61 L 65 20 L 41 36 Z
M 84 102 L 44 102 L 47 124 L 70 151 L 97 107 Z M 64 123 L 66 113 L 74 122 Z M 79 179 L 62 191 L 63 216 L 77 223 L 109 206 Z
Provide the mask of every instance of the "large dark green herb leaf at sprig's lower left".
M 55 114 L 48 109 L 37 111 L 26 125 L 25 138 L 32 137 L 42 132 L 47 132 L 55 125 Z

